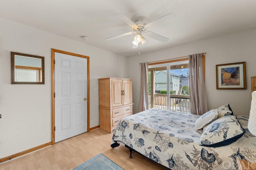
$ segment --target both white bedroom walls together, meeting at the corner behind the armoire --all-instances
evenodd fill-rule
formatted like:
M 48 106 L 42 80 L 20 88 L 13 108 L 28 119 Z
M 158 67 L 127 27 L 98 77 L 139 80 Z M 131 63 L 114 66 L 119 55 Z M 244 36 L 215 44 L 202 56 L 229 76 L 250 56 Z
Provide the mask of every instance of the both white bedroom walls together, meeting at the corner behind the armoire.
M 98 78 L 132 78 L 133 113 L 137 113 L 139 63 L 202 52 L 207 53 L 208 109 L 229 103 L 235 114 L 249 114 L 250 77 L 256 76 L 256 29 L 127 58 L 2 18 L 0 25 L 0 158 L 51 141 L 51 48 L 90 57 L 90 127 L 99 125 L 98 93 L 93 91 L 98 88 Z M 10 51 L 45 57 L 45 84 L 11 84 Z M 216 64 L 243 61 L 247 90 L 216 90 Z

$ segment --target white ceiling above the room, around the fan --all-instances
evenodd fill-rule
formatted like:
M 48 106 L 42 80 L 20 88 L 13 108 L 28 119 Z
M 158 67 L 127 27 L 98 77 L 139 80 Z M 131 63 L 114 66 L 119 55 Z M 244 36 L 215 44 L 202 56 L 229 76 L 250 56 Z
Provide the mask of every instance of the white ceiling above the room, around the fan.
M 124 56 L 146 53 L 229 32 L 256 27 L 256 0 L 0 0 L 0 17 L 42 29 Z M 148 31 L 169 38 L 148 40 L 132 49 L 135 34 L 106 41 L 131 28 L 116 18 L 125 14 L 150 25 Z M 87 36 L 84 40 L 81 36 Z

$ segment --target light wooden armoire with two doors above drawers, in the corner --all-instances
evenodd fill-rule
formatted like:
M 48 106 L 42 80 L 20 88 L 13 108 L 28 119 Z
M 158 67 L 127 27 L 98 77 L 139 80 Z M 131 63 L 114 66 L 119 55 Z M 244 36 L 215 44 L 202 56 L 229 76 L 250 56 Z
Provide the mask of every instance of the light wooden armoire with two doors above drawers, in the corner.
M 111 133 L 118 121 L 132 115 L 132 79 L 99 78 L 100 129 Z

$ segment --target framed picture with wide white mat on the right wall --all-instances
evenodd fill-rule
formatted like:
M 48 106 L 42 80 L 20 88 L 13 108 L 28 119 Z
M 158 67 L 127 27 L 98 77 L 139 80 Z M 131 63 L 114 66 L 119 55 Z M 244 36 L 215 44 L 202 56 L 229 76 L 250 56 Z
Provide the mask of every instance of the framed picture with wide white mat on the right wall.
M 216 65 L 217 89 L 246 89 L 245 62 Z

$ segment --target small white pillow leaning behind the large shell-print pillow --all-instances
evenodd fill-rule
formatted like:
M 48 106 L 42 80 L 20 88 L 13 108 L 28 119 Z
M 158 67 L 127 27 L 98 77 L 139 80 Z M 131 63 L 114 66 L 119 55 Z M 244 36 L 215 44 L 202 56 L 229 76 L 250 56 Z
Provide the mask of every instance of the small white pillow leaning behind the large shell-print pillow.
M 210 111 L 207 111 L 206 113 L 204 113 L 203 115 L 198 117 L 198 119 L 196 120 L 196 123 L 195 123 L 195 128 L 202 129 L 203 127 L 205 127 L 212 121 L 216 120 L 217 118 L 218 118 L 217 109 L 212 109 Z

